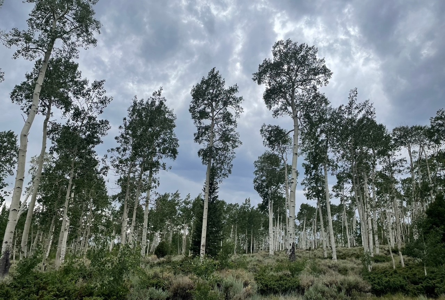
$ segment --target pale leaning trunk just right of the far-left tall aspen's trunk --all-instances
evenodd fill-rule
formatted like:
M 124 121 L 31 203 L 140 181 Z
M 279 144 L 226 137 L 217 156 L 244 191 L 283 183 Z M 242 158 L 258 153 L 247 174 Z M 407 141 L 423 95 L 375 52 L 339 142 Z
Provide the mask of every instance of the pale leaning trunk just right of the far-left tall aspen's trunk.
M 26 214 L 25 225 L 22 233 L 22 241 L 21 241 L 21 250 L 20 250 L 20 259 L 26 257 L 26 250 L 28 248 L 28 234 L 29 227 L 31 226 L 32 221 L 32 213 L 34 212 L 34 205 L 36 205 L 37 192 L 39 190 L 40 177 L 42 175 L 43 169 L 43 159 L 46 151 L 46 138 L 48 134 L 48 121 L 51 116 L 51 105 L 52 102 L 49 100 L 48 108 L 46 110 L 46 117 L 43 121 L 43 136 L 42 136 L 42 147 L 40 149 L 39 155 L 39 164 L 37 166 L 36 176 L 34 177 L 34 181 L 32 182 L 32 196 L 31 201 L 29 201 L 28 213 Z

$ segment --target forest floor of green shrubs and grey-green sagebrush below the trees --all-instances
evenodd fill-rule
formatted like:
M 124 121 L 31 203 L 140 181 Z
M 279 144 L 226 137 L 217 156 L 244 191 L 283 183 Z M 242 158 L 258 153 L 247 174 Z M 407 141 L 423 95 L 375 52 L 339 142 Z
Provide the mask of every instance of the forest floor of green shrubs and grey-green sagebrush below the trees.
M 145 257 L 132 249 L 67 258 L 64 267 L 39 271 L 38 257 L 13 265 L 0 280 L 0 300 L 445 300 L 445 270 L 428 269 L 405 258 L 401 268 L 388 249 L 364 267 L 363 249 L 339 248 L 337 261 L 323 250 L 223 255 L 218 260 L 184 256 Z

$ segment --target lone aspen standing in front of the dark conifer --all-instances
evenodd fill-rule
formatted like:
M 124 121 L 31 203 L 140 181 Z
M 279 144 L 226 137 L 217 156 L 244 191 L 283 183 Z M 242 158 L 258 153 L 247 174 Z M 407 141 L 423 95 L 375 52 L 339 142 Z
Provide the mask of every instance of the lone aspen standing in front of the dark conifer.
M 236 119 L 243 112 L 243 97 L 237 97 L 238 86 L 225 88 L 225 80 L 215 68 L 200 83 L 192 87 L 189 112 L 197 132 L 194 142 L 203 145 L 198 150 L 202 164 L 207 166 L 204 192 L 204 211 L 200 257 L 206 253 L 207 211 L 209 201 L 210 171 L 215 169 L 215 178 L 221 181 L 231 174 L 235 148 L 241 145 L 239 133 L 235 131 Z

